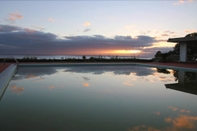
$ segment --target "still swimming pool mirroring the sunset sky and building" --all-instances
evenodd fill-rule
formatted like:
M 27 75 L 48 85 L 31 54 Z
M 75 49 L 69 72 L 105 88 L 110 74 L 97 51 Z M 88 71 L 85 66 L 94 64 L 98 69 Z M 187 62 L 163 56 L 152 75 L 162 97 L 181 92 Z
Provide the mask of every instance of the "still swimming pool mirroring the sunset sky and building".
M 196 74 L 135 65 L 20 67 L 0 102 L 0 128 L 196 130 Z

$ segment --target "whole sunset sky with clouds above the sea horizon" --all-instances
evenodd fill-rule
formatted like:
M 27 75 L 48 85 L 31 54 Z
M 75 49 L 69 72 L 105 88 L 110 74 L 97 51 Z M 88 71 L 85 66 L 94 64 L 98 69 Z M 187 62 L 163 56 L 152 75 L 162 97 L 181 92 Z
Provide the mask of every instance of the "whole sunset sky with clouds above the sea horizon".
M 139 55 L 197 32 L 197 0 L 0 1 L 0 55 Z

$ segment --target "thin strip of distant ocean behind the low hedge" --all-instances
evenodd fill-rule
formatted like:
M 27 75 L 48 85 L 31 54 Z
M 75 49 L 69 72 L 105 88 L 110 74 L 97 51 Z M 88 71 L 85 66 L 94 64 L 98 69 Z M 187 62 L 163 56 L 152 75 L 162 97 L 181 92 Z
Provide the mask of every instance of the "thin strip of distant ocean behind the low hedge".
M 23 58 L 35 58 L 36 59 L 56 59 L 56 60 L 61 60 L 61 59 L 83 59 L 83 55 L 0 55 L 0 58 L 16 58 L 16 59 L 23 59 Z M 90 57 L 94 58 L 104 58 L 104 59 L 110 59 L 112 57 L 117 57 L 119 59 L 128 59 L 128 58 L 137 58 L 137 59 L 151 59 L 151 58 L 144 58 L 140 56 L 116 56 L 116 55 L 85 55 L 86 59 L 89 59 Z

